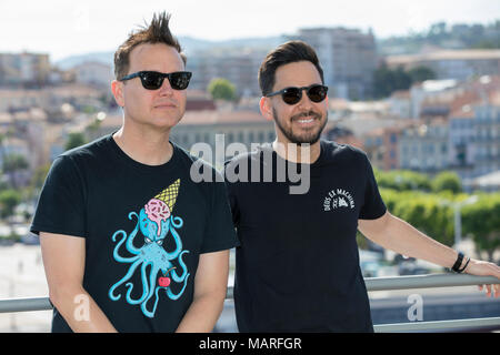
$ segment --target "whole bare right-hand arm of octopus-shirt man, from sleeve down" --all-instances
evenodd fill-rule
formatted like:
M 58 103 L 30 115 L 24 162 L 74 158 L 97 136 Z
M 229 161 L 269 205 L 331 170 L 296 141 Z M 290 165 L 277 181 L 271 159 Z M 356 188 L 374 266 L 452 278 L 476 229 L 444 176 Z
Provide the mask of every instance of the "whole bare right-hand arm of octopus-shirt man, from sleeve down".
M 194 297 L 178 333 L 211 332 L 222 312 L 229 274 L 229 250 L 200 255 Z

